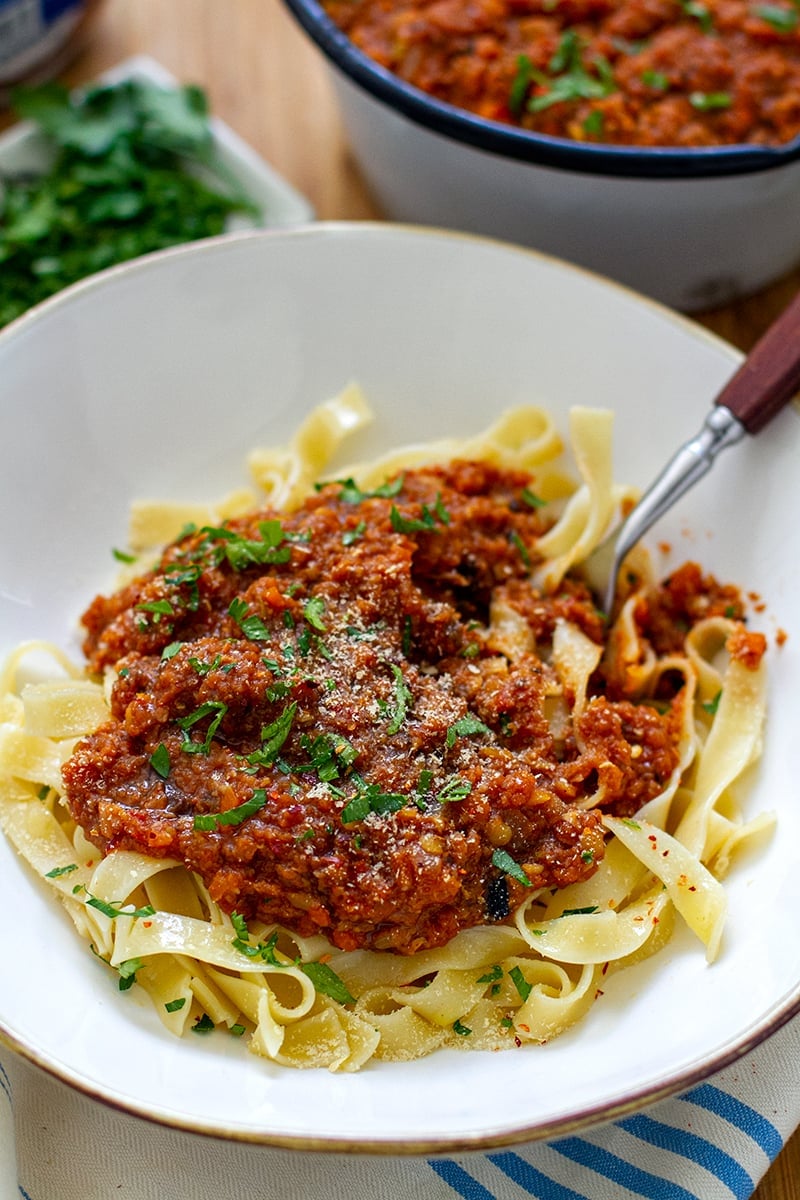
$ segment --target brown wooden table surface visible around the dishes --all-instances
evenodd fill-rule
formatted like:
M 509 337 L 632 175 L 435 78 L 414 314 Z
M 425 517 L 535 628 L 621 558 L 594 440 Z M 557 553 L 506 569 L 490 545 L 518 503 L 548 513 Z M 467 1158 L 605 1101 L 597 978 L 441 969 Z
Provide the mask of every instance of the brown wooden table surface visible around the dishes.
M 339 126 L 317 50 L 281 0 L 106 0 L 88 48 L 65 74 L 92 79 L 132 54 L 150 54 L 207 91 L 228 121 L 295 187 L 321 220 L 380 220 Z M 8 124 L 0 116 L 0 127 Z M 800 270 L 697 319 L 747 349 L 800 289 Z M 800 1200 L 800 1133 L 754 1200 Z

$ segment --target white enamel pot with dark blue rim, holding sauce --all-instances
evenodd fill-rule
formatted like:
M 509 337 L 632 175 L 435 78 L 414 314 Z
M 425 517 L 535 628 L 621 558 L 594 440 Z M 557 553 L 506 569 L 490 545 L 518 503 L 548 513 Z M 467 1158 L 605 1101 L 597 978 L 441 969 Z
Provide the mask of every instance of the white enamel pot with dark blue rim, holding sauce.
M 533 246 L 685 311 L 800 262 L 800 139 L 603 146 L 500 125 L 359 50 L 319 0 L 285 0 L 330 67 L 353 152 L 385 215 Z

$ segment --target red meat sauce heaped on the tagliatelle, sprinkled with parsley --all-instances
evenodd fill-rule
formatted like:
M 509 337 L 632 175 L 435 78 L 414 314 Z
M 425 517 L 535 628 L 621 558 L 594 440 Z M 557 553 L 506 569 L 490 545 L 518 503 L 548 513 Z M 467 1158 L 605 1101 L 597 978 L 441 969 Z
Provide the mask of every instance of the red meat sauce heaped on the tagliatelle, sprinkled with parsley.
M 663 790 L 679 706 L 633 702 L 601 664 L 577 730 L 554 719 L 575 703 L 557 624 L 602 646 L 606 623 L 579 580 L 533 584 L 552 524 L 534 488 L 473 462 L 326 484 L 187 529 L 97 596 L 85 652 L 112 714 L 64 768 L 90 840 L 184 863 L 227 912 L 404 954 L 591 875 L 593 796 L 627 816 Z M 732 604 L 688 570 L 637 619 L 663 641 L 675 606 L 686 628 Z M 498 613 L 525 631 L 515 653 Z

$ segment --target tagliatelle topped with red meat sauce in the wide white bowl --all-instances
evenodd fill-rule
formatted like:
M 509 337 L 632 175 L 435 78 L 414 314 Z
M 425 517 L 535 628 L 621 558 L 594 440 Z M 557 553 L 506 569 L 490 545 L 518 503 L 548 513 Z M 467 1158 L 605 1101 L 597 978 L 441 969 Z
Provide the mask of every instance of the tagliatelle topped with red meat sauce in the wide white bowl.
M 546 1042 L 675 919 L 712 960 L 769 822 L 739 590 L 637 551 L 597 611 L 610 413 L 331 478 L 368 419 L 351 386 L 253 451 L 258 496 L 138 504 L 85 666 L 0 677 L 0 823 L 120 990 L 332 1070 Z

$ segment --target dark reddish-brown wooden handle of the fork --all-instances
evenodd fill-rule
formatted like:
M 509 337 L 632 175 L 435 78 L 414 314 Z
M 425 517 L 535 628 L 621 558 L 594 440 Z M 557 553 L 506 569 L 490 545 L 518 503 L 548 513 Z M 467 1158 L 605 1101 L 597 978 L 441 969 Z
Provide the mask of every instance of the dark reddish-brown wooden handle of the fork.
M 758 433 L 800 391 L 800 292 L 756 343 L 715 404 Z

